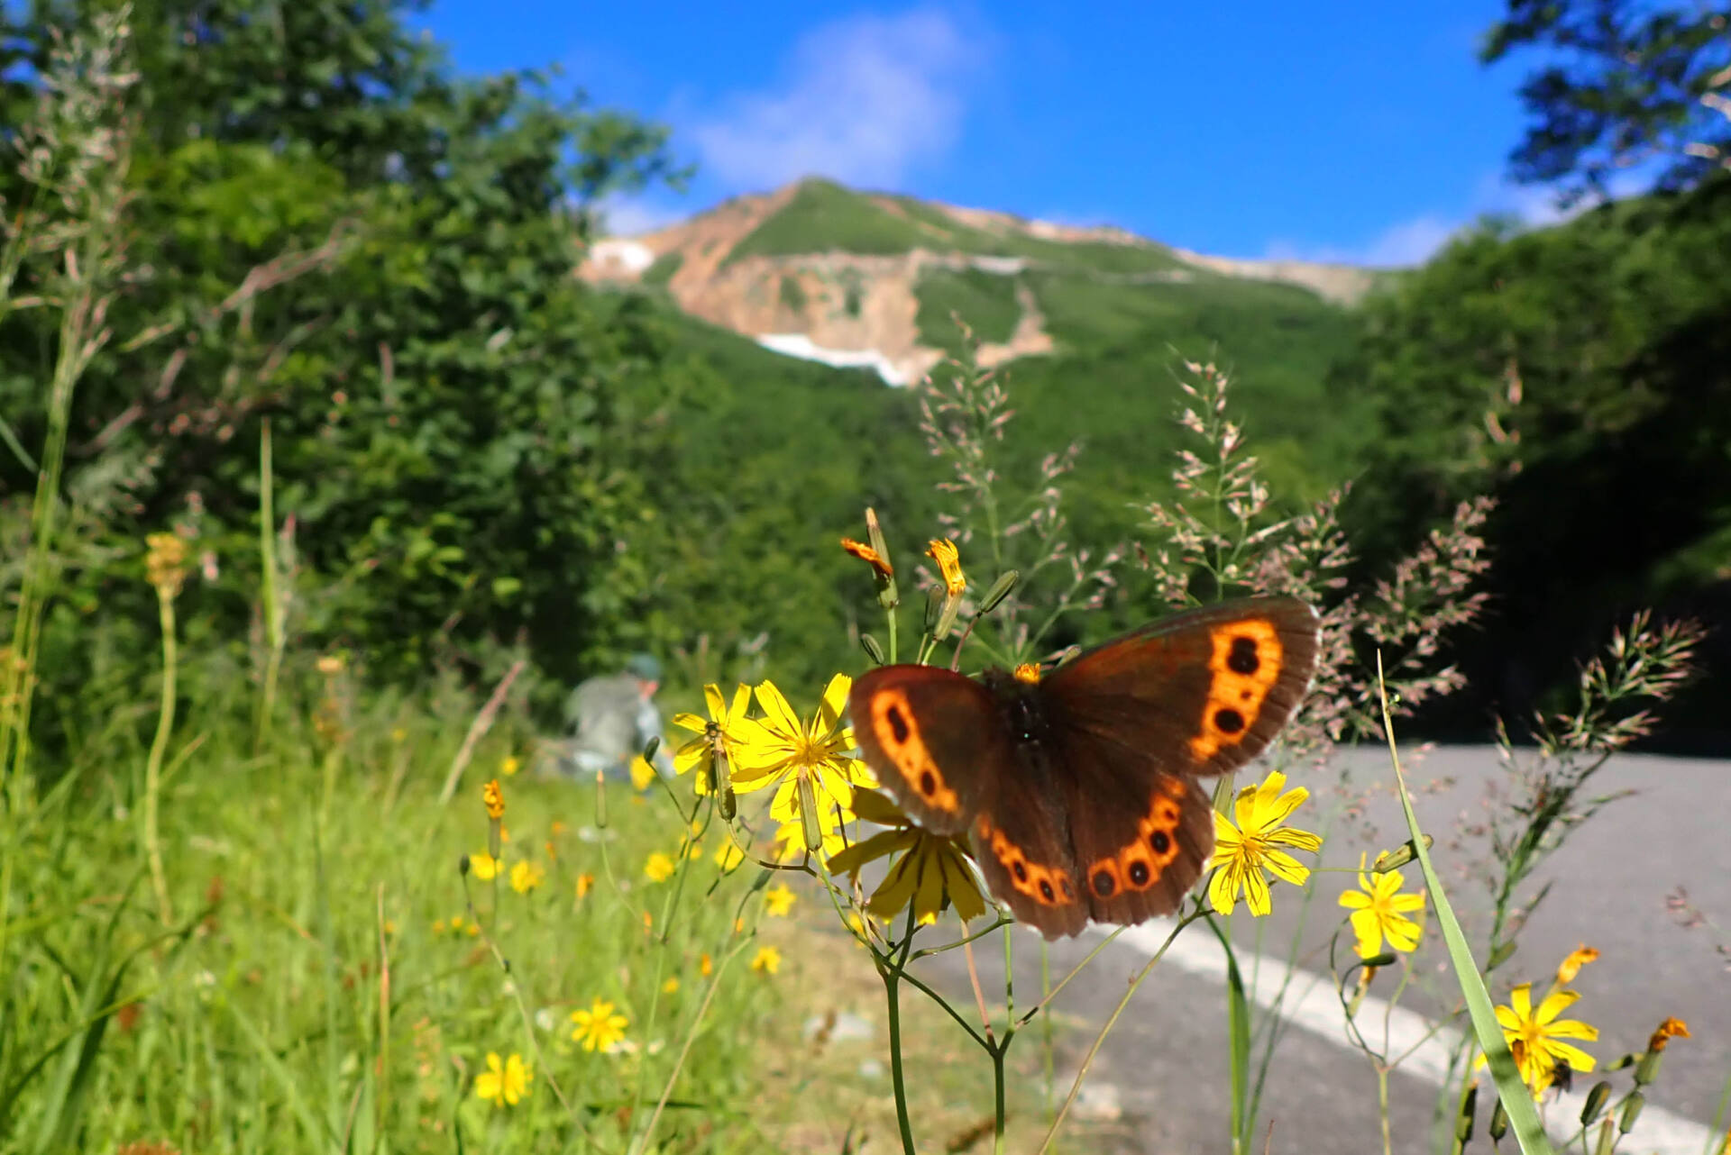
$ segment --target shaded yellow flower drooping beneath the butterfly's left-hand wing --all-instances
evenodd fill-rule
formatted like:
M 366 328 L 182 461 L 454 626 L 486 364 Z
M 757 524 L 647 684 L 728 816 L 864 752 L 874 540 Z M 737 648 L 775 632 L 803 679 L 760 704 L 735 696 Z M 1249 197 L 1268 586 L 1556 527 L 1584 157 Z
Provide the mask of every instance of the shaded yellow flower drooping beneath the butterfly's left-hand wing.
M 956 906 L 962 922 L 985 913 L 985 897 L 975 884 L 973 871 L 968 870 L 961 842 L 952 835 L 935 835 L 916 826 L 895 802 L 876 790 L 855 792 L 853 806 L 860 818 L 890 830 L 831 856 L 829 871 L 857 878 L 866 863 L 900 852 L 866 903 L 866 909 L 888 918 L 912 903 L 914 918 L 921 923 L 936 922 L 947 904 Z

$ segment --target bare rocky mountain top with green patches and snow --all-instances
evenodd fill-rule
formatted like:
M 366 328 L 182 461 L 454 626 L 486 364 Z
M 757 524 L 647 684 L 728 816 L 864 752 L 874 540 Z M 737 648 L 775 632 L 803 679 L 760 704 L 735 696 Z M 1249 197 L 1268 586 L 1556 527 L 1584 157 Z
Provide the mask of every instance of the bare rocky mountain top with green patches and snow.
M 1168 249 L 1120 228 L 1078 228 L 805 180 L 727 201 L 687 221 L 592 246 L 595 284 L 665 287 L 692 316 L 760 344 L 885 380 L 921 377 L 956 348 L 954 318 L 980 360 L 1078 353 L 1122 329 L 1078 301 L 1106 292 L 1111 313 L 1160 316 L 1172 294 L 1224 282 L 1281 284 L 1317 306 L 1350 303 L 1369 270 L 1236 261 Z M 1063 320 L 1054 320 L 1063 315 Z

